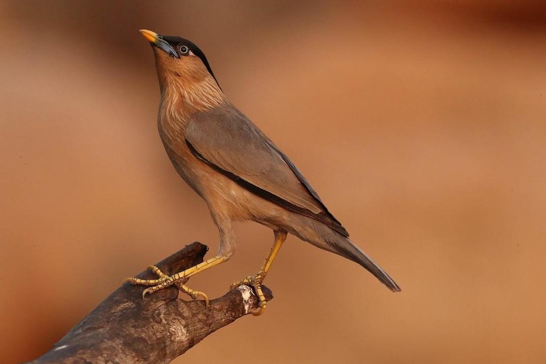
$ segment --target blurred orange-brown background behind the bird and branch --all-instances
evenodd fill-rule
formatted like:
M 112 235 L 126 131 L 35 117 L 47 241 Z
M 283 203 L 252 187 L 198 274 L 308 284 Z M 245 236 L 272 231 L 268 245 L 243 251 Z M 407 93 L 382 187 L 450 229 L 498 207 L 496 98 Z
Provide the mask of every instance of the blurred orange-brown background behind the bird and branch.
M 396 279 L 289 237 L 260 318 L 178 362 L 546 362 L 546 3 L 0 2 L 0 356 L 48 350 L 198 240 L 138 29 L 200 45 L 228 98 Z M 271 232 L 191 286 L 254 273 Z

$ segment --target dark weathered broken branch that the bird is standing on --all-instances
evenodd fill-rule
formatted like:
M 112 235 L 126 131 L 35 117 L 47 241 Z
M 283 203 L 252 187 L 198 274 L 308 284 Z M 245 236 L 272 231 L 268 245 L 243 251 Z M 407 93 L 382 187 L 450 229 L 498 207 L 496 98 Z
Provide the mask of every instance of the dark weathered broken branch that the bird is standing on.
M 198 242 L 165 258 L 156 266 L 172 275 L 203 261 L 208 248 Z M 155 279 L 149 271 L 137 277 Z M 168 363 L 221 327 L 258 308 L 248 286 L 205 302 L 178 298 L 169 287 L 147 295 L 145 287 L 126 283 L 73 327 L 61 341 L 32 363 L 133 362 Z M 266 299 L 271 291 L 262 287 Z

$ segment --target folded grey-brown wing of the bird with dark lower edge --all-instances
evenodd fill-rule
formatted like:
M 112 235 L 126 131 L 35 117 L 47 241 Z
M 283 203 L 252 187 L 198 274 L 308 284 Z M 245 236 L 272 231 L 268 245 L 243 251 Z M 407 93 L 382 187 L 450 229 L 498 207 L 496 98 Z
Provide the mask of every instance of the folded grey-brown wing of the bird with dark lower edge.
M 349 236 L 290 159 L 234 106 L 195 114 L 186 142 L 195 156 L 242 187 Z

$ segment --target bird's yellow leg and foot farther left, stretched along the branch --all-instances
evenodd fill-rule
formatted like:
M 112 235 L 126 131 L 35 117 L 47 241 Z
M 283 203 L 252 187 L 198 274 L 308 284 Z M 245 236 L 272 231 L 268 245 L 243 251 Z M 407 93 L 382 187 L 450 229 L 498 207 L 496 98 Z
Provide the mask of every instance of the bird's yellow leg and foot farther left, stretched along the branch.
M 144 296 L 147 293 L 153 293 L 155 291 L 158 291 L 160 289 L 170 287 L 171 285 L 175 285 L 178 289 L 180 289 L 182 292 L 188 294 L 192 299 L 197 299 L 197 297 L 201 296 L 205 299 L 205 305 L 209 306 L 209 297 L 207 297 L 206 294 L 200 291 L 193 290 L 184 283 L 186 283 L 189 279 L 189 277 L 196 275 L 197 273 L 203 272 L 204 270 L 207 270 L 215 265 L 218 265 L 220 263 L 223 263 L 224 261 L 228 260 L 230 258 L 230 255 L 228 256 L 213 256 L 210 259 L 205 260 L 202 263 L 199 263 L 198 265 L 195 265 L 191 268 L 186 269 L 185 271 L 176 273 L 175 275 L 168 276 L 165 275 L 161 270 L 159 270 L 156 266 L 150 266 L 149 269 L 156 273 L 157 276 L 159 276 L 158 279 L 139 279 L 139 278 L 126 278 L 123 282 L 130 282 L 132 284 L 141 284 L 149 286 L 150 288 L 146 288 L 142 296 Z

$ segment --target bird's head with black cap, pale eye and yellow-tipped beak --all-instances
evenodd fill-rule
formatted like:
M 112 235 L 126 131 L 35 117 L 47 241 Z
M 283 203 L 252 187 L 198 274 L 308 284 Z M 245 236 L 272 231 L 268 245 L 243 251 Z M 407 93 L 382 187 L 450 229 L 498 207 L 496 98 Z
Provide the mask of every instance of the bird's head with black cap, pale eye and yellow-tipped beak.
M 163 90 L 176 89 L 192 100 L 198 96 L 223 99 L 222 90 L 209 62 L 197 45 L 187 39 L 160 35 L 146 29 L 142 29 L 140 33 L 152 46 L 159 85 Z M 203 102 L 209 104 L 211 100 Z

